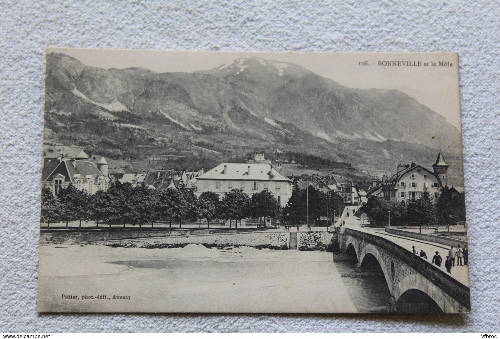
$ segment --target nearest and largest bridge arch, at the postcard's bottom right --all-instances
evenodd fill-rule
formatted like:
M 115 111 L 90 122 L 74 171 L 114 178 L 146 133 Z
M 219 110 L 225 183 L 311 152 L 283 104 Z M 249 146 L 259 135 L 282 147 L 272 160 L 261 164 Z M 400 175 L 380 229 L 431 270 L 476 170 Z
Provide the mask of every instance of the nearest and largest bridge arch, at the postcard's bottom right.
M 406 294 L 406 292 L 408 292 L 408 294 Z M 419 274 L 404 276 L 395 286 L 395 290 L 392 295 L 396 300 L 396 306 L 398 302 L 399 305 L 402 306 L 402 303 L 405 302 L 405 298 L 407 298 L 409 295 L 413 295 L 417 300 L 422 300 L 423 302 L 423 300 L 425 300 L 425 297 L 421 293 L 427 295 L 428 299 L 431 299 L 435 303 L 435 305 L 439 307 L 441 312 L 452 313 L 456 312 L 457 307 L 461 308 L 461 306 L 455 300 L 449 300 L 446 297 L 446 293 L 444 293 L 440 288 L 438 288 L 428 279 Z M 403 297 L 403 299 L 399 300 L 401 297 Z M 427 301 L 429 301 L 428 299 Z M 435 307 L 433 308 L 435 309 Z M 437 311 L 437 309 L 435 310 Z M 423 312 L 429 312 L 429 310 L 424 310 Z

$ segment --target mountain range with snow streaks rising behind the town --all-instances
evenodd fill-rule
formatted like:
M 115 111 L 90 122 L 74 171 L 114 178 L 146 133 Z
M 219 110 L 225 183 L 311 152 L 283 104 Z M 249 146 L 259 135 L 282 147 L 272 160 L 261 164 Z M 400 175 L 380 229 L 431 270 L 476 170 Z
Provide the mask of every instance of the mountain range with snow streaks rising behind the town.
M 240 146 L 235 152 L 298 149 L 365 164 L 370 173 L 415 157 L 429 160 L 437 148 L 461 161 L 458 129 L 411 96 L 349 88 L 291 62 L 250 57 L 209 70 L 156 73 L 85 66 L 50 53 L 45 90 L 45 139 L 87 148 L 184 143 L 223 153 L 231 141 Z M 380 165 L 373 164 L 376 153 Z

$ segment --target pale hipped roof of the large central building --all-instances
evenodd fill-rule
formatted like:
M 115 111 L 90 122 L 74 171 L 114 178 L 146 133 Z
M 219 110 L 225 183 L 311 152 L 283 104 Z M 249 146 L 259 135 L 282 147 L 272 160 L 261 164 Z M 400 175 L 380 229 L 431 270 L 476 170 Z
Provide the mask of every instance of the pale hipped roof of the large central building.
M 249 173 L 248 168 L 250 169 Z M 289 178 L 281 174 L 276 168 L 268 163 L 221 163 L 204 174 L 201 174 L 196 179 L 273 180 L 291 182 Z

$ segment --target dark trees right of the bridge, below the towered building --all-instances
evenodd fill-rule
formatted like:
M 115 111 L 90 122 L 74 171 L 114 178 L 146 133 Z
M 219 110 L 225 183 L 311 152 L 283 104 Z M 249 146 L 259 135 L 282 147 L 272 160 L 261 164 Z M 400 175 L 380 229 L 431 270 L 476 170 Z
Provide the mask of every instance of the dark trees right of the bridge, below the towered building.
M 372 224 L 385 225 L 388 223 L 389 211 L 392 225 L 456 224 L 465 220 L 465 197 L 463 193 L 456 193 L 448 187 L 442 189 L 436 203 L 427 189 L 418 199 L 408 203 L 373 196 L 368 198 L 368 202 L 358 213 L 365 212 Z

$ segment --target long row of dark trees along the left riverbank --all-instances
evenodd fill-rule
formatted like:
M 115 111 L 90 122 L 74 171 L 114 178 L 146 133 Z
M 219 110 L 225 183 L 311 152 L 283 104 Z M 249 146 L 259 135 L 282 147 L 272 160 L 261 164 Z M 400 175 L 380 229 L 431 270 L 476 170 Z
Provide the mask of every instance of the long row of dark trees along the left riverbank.
M 89 195 L 72 184 L 61 188 L 53 195 L 48 188 L 41 192 L 41 222 L 47 226 L 53 222 L 95 221 L 108 224 L 154 225 L 163 221 L 178 222 L 206 219 L 207 226 L 213 219 L 232 220 L 246 217 L 260 218 L 270 216 L 279 218 L 281 206 L 268 190 L 254 193 L 251 197 L 242 189 L 232 189 L 219 199 L 217 193 L 203 192 L 199 197 L 190 189 L 166 189 L 157 191 L 143 184 L 132 186 L 130 183 L 113 182 L 108 190 L 99 190 Z M 260 225 L 260 224 L 259 224 Z

